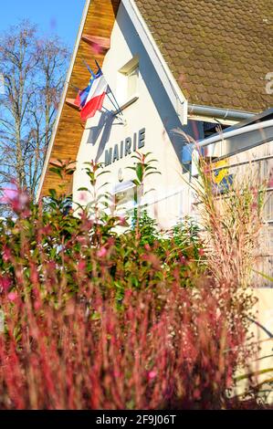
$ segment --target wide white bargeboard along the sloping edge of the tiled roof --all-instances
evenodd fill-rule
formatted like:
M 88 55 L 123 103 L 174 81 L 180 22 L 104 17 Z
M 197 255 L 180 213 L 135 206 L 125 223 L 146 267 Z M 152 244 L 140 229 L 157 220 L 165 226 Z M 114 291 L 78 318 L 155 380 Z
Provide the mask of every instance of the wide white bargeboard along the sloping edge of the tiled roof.
M 152 64 L 163 83 L 163 87 L 173 104 L 173 108 L 176 111 L 179 120 L 181 121 L 182 125 L 185 125 L 187 123 L 188 117 L 187 99 L 185 99 L 182 90 L 179 88 L 176 80 L 173 78 L 173 73 L 164 60 L 160 49 L 157 47 L 152 37 L 152 33 L 142 18 L 142 14 L 135 4 L 135 1 L 121 0 L 121 3 L 127 10 L 133 26 L 142 40 L 143 46 L 146 48 L 147 53 L 152 60 Z

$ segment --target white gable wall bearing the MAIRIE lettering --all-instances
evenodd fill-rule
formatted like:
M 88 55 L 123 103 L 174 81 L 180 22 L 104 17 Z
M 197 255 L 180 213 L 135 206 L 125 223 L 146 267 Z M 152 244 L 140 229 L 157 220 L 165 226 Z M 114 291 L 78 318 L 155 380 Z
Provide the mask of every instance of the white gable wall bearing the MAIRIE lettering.
M 175 130 L 181 129 L 182 125 L 122 4 L 113 27 L 110 45 L 110 51 L 106 55 L 102 68 L 110 88 L 122 102 L 121 88 L 118 85 L 121 75 L 118 70 L 131 58 L 138 56 L 140 64 L 139 99 L 123 110 L 125 122 L 123 125 L 117 118 L 113 120 L 107 113 L 101 114 L 100 112 L 97 112 L 95 118 L 87 121 L 79 147 L 78 169 L 74 174 L 74 201 L 79 201 L 79 195 L 82 196 L 82 193 L 78 192 L 79 187 L 89 184 L 88 177 L 82 171 L 83 162 L 91 160 L 104 162 L 105 150 L 114 148 L 115 144 L 120 145 L 120 142 L 127 137 L 133 138 L 134 132 L 145 128 L 145 146 L 141 152 L 152 152 L 152 158 L 158 160 L 158 169 L 162 173 L 147 178 L 145 191 L 155 189 L 149 196 L 156 201 L 161 200 L 161 202 L 151 206 L 152 213 L 160 225 L 168 227 L 173 225 L 175 220 L 188 209 L 189 191 L 182 178 L 181 166 L 184 138 L 175 132 Z M 91 63 L 91 59 L 89 62 Z M 107 109 L 112 109 L 108 99 L 104 105 Z M 185 126 L 184 131 L 195 135 L 196 139 L 202 137 L 198 134 L 198 122 L 194 122 L 194 127 L 191 123 Z M 113 187 L 119 184 L 120 169 L 122 169 L 123 182 L 131 180 L 133 172 L 127 170 L 126 167 L 132 165 L 132 162 L 131 156 L 127 156 L 112 163 L 107 167 L 110 174 L 103 175 L 101 183 L 110 182 L 108 190 L 112 191 Z M 182 189 L 182 194 L 179 194 L 178 197 L 164 199 L 164 195 L 175 194 L 180 192 L 180 189 Z M 184 208 L 182 209 L 182 207 Z

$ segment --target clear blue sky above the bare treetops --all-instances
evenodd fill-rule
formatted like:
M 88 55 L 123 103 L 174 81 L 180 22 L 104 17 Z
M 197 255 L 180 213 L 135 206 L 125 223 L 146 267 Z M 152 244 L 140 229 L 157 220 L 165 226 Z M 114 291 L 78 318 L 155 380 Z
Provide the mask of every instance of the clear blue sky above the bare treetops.
M 42 34 L 57 34 L 72 50 L 84 5 L 85 0 L 1 0 L 0 33 L 28 18 Z

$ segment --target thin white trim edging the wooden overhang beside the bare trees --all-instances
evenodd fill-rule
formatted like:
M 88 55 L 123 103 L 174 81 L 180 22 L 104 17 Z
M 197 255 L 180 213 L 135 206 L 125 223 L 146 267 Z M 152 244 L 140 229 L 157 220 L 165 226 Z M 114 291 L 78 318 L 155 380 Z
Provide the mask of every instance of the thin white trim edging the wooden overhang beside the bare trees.
M 73 67 L 74 67 L 75 59 L 77 57 L 77 53 L 78 53 L 78 49 L 79 49 L 79 42 L 80 42 L 80 39 L 81 39 L 81 36 L 82 36 L 82 32 L 83 32 L 83 28 L 84 28 L 84 25 L 85 25 L 85 22 L 86 22 L 86 18 L 87 18 L 87 15 L 88 15 L 90 3 L 91 3 L 91 0 L 87 0 L 86 4 L 84 6 L 84 9 L 83 9 L 83 14 L 82 14 L 81 21 L 80 21 L 78 36 L 77 36 L 77 39 L 76 39 L 75 47 L 74 47 L 73 54 L 72 54 L 72 57 L 71 57 L 71 60 L 70 60 L 70 65 L 69 65 L 69 68 L 68 68 L 68 74 L 67 74 L 67 78 L 66 78 L 66 82 L 65 82 L 65 87 L 64 87 L 64 90 L 63 90 L 63 93 L 62 93 L 61 100 L 59 102 L 58 115 L 57 115 L 57 118 L 56 118 L 56 121 L 55 121 L 54 129 L 53 129 L 52 136 L 51 136 L 51 140 L 50 140 L 48 148 L 47 148 L 47 155 L 46 155 L 46 159 L 45 159 L 45 162 L 44 162 L 43 171 L 42 171 L 42 174 L 41 174 L 41 177 L 40 177 L 39 186 L 38 186 L 38 189 L 37 189 L 37 201 L 40 198 L 40 194 L 42 192 L 43 184 L 44 184 L 44 181 L 45 181 L 45 176 L 46 176 L 46 173 L 47 173 L 47 165 L 48 165 L 48 162 L 50 160 L 50 156 L 51 156 L 51 152 L 52 152 L 52 149 L 53 149 L 54 141 L 55 141 L 56 134 L 57 134 L 57 131 L 58 131 L 59 120 L 60 120 L 61 113 L 62 113 L 64 104 L 65 104 L 65 101 L 66 101 L 67 92 L 68 92 L 68 82 L 70 81 L 70 78 L 71 78 L 71 75 L 72 75 L 72 70 L 73 70 Z

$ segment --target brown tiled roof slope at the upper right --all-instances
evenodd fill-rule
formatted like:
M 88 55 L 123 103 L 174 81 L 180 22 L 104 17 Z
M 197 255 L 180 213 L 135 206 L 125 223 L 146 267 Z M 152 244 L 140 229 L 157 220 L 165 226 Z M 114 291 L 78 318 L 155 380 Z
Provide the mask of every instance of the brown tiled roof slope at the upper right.
M 273 106 L 273 0 L 135 0 L 190 103 Z M 272 85 L 273 89 L 273 85 Z

